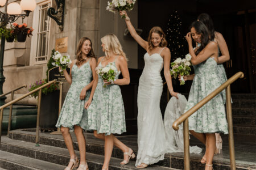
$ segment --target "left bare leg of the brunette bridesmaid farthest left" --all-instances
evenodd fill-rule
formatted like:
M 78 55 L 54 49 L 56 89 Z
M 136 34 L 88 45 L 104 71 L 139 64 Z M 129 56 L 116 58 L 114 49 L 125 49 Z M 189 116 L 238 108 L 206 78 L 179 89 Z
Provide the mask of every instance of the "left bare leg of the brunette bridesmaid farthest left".
M 74 148 L 73 148 L 73 141 L 72 141 L 72 137 L 71 137 L 71 135 L 69 133 L 69 128 L 65 128 L 65 127 L 61 126 L 60 131 L 61 131 L 61 133 L 63 135 L 64 141 L 65 141 L 65 145 L 68 148 L 70 158 L 71 159 L 75 159 L 76 154 L 75 154 L 75 151 L 74 151 Z M 68 167 L 71 168 L 72 165 L 73 165 L 73 163 L 69 162 Z

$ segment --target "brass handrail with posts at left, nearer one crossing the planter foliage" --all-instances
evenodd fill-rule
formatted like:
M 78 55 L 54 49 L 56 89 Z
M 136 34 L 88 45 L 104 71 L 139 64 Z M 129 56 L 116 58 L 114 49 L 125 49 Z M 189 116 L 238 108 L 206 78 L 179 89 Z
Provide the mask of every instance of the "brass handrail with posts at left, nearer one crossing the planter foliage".
M 36 118 L 36 142 L 35 142 L 36 144 L 35 144 L 35 146 L 39 146 L 39 118 L 40 118 L 42 88 L 47 87 L 55 82 L 56 82 L 55 80 L 52 80 L 51 82 L 48 82 L 48 83 L 44 84 L 43 86 L 40 86 L 40 87 L 36 88 L 35 90 L 32 90 L 32 91 L 28 92 L 27 94 L 25 94 L 21 97 L 18 97 L 17 99 L 14 99 L 13 101 L 10 101 L 9 103 L 6 103 L 0 107 L 0 110 L 1 110 L 0 111 L 0 146 L 1 146 L 1 135 L 2 135 L 3 109 L 6 107 L 9 107 L 9 105 L 12 105 L 19 100 L 24 99 L 25 97 L 27 97 L 29 95 L 34 94 L 37 91 L 39 91 L 39 94 L 38 94 L 38 114 L 37 114 L 37 118 Z

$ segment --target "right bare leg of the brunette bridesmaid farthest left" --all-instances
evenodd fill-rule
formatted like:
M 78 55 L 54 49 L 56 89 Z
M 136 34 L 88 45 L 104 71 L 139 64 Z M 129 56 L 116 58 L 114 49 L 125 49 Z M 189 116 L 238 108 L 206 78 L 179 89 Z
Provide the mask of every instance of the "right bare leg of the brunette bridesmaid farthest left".
M 80 152 L 80 164 L 85 164 L 85 138 L 82 133 L 82 128 L 80 126 L 75 125 L 75 134 L 77 138 L 77 142 L 79 144 L 79 152 Z

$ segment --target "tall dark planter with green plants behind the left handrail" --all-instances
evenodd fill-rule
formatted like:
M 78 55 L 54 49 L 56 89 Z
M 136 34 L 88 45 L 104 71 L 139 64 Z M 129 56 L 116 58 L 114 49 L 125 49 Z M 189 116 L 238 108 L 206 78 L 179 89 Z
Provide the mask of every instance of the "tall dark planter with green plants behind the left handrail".
M 52 56 L 54 55 L 55 50 L 52 50 Z M 35 83 L 30 85 L 28 91 L 35 90 L 36 88 L 43 86 L 43 84 L 48 83 L 48 70 L 51 69 L 52 65 L 52 56 L 47 64 L 47 79 L 38 80 Z M 39 92 L 39 91 L 38 91 Z M 38 92 L 32 94 L 33 97 L 38 96 Z M 41 130 L 54 130 L 56 129 L 55 125 L 59 117 L 59 85 L 58 83 L 53 83 L 42 89 L 42 99 L 40 107 L 40 129 Z

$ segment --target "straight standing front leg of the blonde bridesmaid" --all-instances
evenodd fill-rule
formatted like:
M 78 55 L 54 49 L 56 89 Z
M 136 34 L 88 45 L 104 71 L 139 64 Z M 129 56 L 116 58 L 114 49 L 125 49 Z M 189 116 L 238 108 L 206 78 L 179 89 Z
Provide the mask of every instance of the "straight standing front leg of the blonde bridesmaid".
M 105 146 L 104 146 L 104 164 L 102 166 L 102 169 L 108 170 L 109 169 L 109 162 L 112 155 L 114 140 L 113 140 L 113 134 L 105 135 Z

